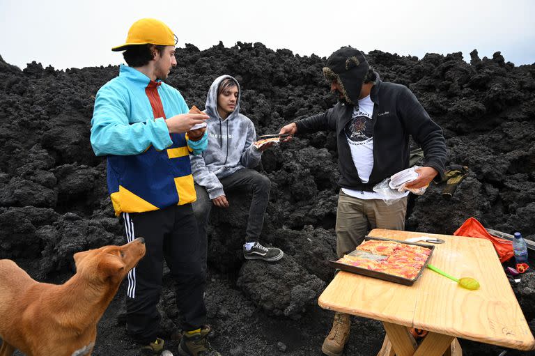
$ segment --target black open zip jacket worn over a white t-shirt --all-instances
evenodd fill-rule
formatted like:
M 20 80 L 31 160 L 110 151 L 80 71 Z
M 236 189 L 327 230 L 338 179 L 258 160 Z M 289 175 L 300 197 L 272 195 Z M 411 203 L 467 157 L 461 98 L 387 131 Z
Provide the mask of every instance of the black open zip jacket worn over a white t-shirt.
M 424 150 L 424 166 L 433 167 L 444 178 L 447 157 L 442 129 L 434 123 L 414 94 L 400 84 L 382 82 L 371 88 L 373 101 L 373 169 L 368 183 L 362 183 L 351 157 L 343 128 L 351 121 L 353 106 L 338 102 L 323 114 L 295 122 L 298 134 L 336 131 L 341 178 L 339 185 L 373 191 L 373 185 L 409 167 L 409 135 Z

